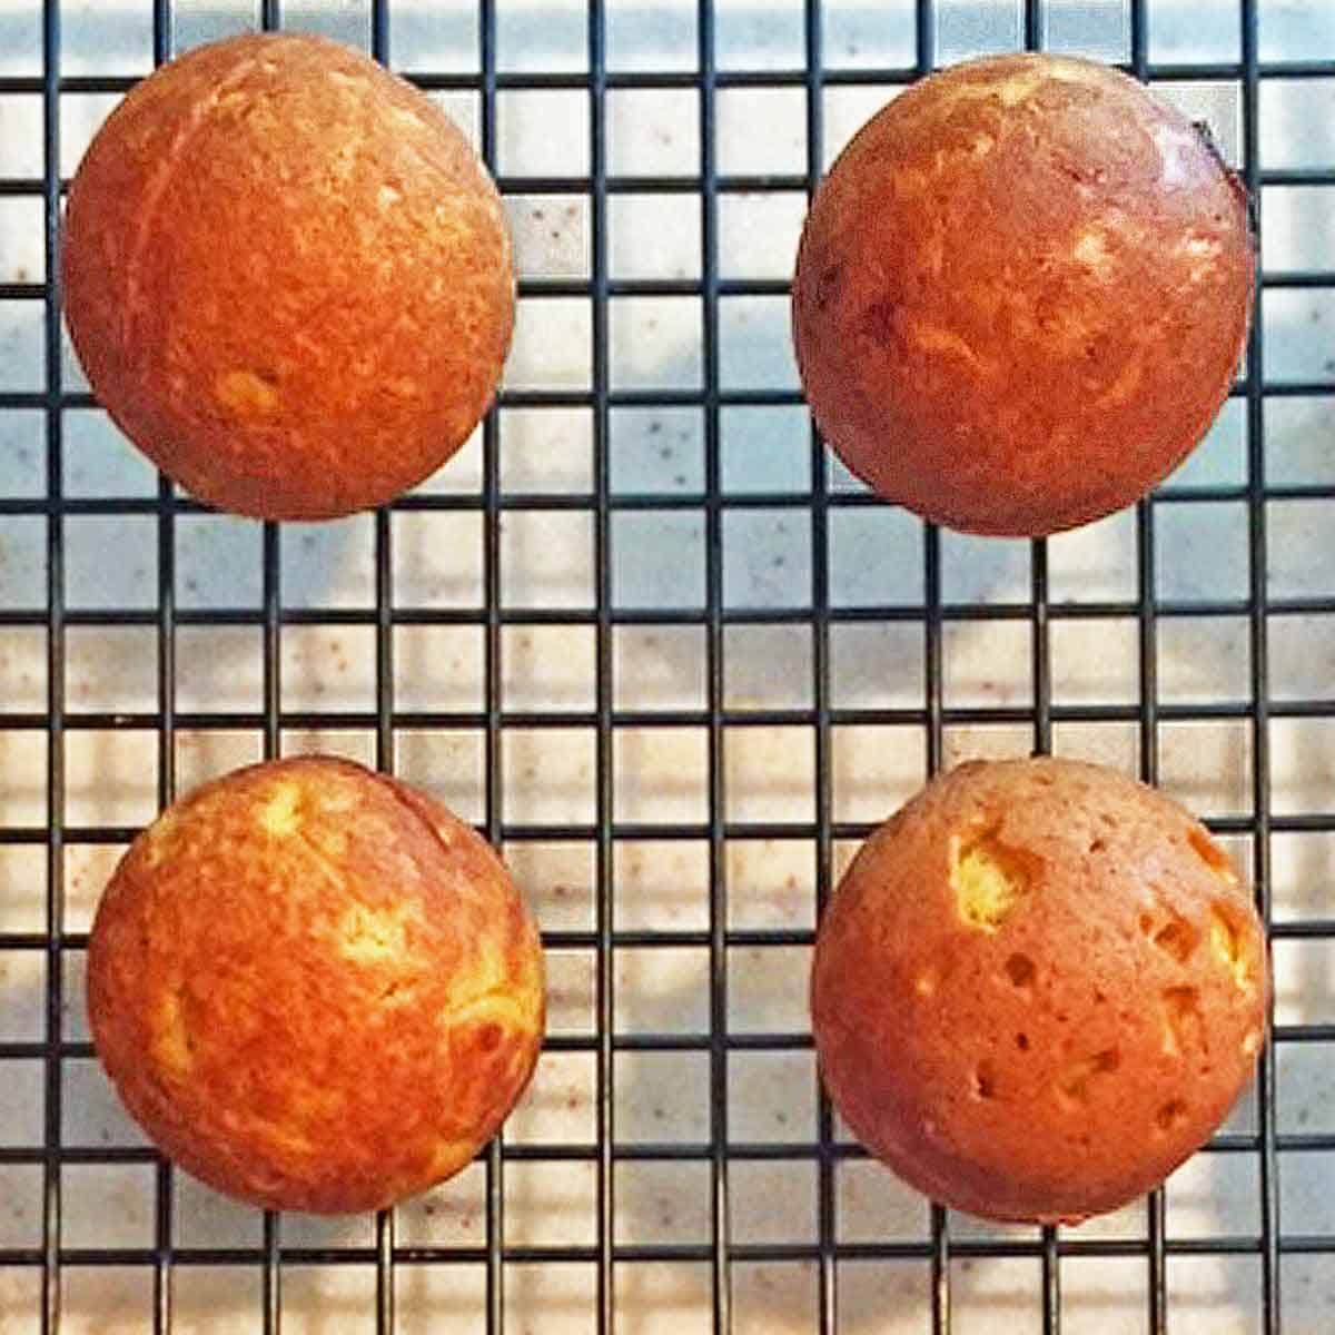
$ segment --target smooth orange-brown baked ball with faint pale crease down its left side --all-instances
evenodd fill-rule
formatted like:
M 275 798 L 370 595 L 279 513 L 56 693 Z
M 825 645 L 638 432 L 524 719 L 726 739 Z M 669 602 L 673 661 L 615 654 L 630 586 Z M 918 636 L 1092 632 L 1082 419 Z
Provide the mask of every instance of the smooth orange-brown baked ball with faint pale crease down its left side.
M 391 499 L 470 435 L 514 318 L 501 200 L 430 99 L 320 37 L 198 48 L 69 188 L 93 392 L 196 497 L 271 519 Z

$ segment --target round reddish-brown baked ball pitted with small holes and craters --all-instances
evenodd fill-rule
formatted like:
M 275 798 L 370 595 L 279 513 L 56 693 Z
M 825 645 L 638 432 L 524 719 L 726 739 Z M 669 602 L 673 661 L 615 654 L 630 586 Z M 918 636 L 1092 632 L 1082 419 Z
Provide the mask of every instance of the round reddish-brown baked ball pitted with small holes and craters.
M 961 912 L 961 858 L 1017 888 Z M 820 926 L 821 1073 L 926 1195 L 1079 1223 L 1202 1145 L 1256 1063 L 1260 924 L 1204 826 L 1101 768 L 972 762 L 860 850 Z

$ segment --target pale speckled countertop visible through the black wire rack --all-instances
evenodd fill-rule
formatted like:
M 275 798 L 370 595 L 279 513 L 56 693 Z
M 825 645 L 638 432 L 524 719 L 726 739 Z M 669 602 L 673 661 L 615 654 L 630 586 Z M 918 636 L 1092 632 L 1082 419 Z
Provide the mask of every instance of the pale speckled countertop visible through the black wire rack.
M 255 4 L 178 0 L 175 43 L 184 49 L 256 21 Z M 394 0 L 392 64 L 403 71 L 467 73 L 478 68 L 474 5 L 467 0 Z M 1335 60 L 1335 8 L 1326 0 L 1264 0 L 1262 60 Z M 937 57 L 945 63 L 1023 40 L 1021 5 L 939 0 Z M 292 28 L 318 28 L 366 44 L 367 3 L 283 5 Z M 1234 0 L 1149 0 L 1149 59 L 1192 64 L 1239 57 Z M 1125 59 L 1123 0 L 1069 0 L 1044 7 L 1045 41 L 1109 60 Z M 825 0 L 824 60 L 857 71 L 912 64 L 914 5 Z M 502 72 L 587 69 L 587 13 L 582 3 L 495 5 L 495 59 Z M 142 73 L 151 65 L 148 0 L 61 5 L 64 75 Z M 720 69 L 796 69 L 805 61 L 804 7 L 797 0 L 720 0 L 714 51 Z M 607 65 L 613 71 L 697 68 L 697 7 L 686 0 L 629 4 L 607 0 Z M 40 5 L 0 0 L 0 77 L 39 73 Z M 659 87 L 613 88 L 606 95 L 607 166 L 615 175 L 693 178 L 701 168 L 700 93 L 662 80 Z M 1228 77 L 1180 79 L 1161 91 L 1210 120 L 1223 152 L 1238 160 L 1242 111 Z M 824 89 L 824 156 L 840 146 L 890 89 L 833 83 Z M 474 135 L 479 96 L 441 93 Z M 801 84 L 730 84 L 714 95 L 717 167 L 724 174 L 805 174 L 806 92 Z M 115 96 L 71 91 L 61 97 L 61 166 L 69 172 Z M 590 100 L 586 89 L 502 88 L 495 143 L 505 178 L 578 178 L 587 172 Z M 1259 148 L 1267 170 L 1335 166 L 1335 75 L 1299 83 L 1266 80 L 1260 91 Z M 40 178 L 41 97 L 0 91 L 0 178 Z M 1335 187 L 1266 188 L 1263 262 L 1268 272 L 1335 270 Z M 613 279 L 698 279 L 700 214 L 689 194 L 617 192 L 607 203 L 607 256 Z M 510 219 L 526 279 L 587 279 L 590 196 L 586 190 L 513 191 Z M 805 196 L 797 190 L 737 191 L 717 211 L 717 266 L 724 279 L 788 278 Z M 0 283 L 44 276 L 41 199 L 0 195 Z M 0 294 L 0 392 L 41 390 L 43 303 Z M 611 300 L 609 380 L 613 390 L 698 390 L 702 383 L 702 303 L 698 295 L 637 295 Z M 591 386 L 593 304 L 583 295 L 535 295 L 521 303 L 509 390 L 583 391 Z M 1324 382 L 1335 376 L 1335 286 L 1276 287 L 1263 307 L 1267 382 Z M 718 376 L 729 390 L 793 390 L 786 298 L 765 291 L 718 300 Z M 67 352 L 65 388 L 84 382 Z M 669 398 L 672 395 L 669 394 Z M 104 417 L 87 409 L 63 415 L 61 478 L 69 498 L 156 494 L 156 477 Z M 1272 487 L 1335 485 L 1335 396 L 1267 396 L 1266 470 Z M 45 494 L 45 419 L 40 407 L 0 409 L 0 498 Z M 725 405 L 718 418 L 718 477 L 725 499 L 748 493 L 806 494 L 812 451 L 800 405 Z M 705 489 L 704 414 L 689 406 L 617 407 L 610 418 L 613 498 L 658 494 L 665 507 L 614 510 L 610 521 L 610 601 L 614 611 L 646 607 L 689 613 L 705 606 L 710 569 Z M 507 825 L 550 828 L 550 838 L 510 844 L 506 854 L 543 928 L 578 933 L 594 926 L 595 850 L 570 838 L 597 812 L 595 626 L 586 615 L 598 590 L 594 567 L 593 418 L 586 407 L 505 407 L 498 429 L 498 482 L 503 494 L 541 493 L 557 503 L 507 509 L 499 519 L 497 593 L 507 617 L 501 630 L 499 705 L 507 712 L 567 713 L 561 726 L 506 724 L 498 748 L 501 813 Z M 1207 442 L 1169 481 L 1155 507 L 1152 586 L 1164 603 L 1208 602 L 1208 615 L 1160 615 L 1156 623 L 1157 773 L 1164 788 L 1206 817 L 1252 814 L 1256 737 L 1251 717 L 1251 589 L 1248 507 L 1239 490 L 1218 499 L 1173 501 L 1184 487 L 1240 489 L 1247 482 L 1247 414 L 1240 399 L 1223 411 Z M 473 442 L 426 491 L 477 497 L 481 441 Z M 830 489 L 854 490 L 838 470 Z M 578 498 L 585 498 L 581 505 Z M 569 503 L 567 503 L 569 502 Z M 1331 599 L 1335 594 L 1335 509 L 1328 498 L 1286 494 L 1266 502 L 1267 597 Z M 152 611 L 159 598 L 159 523 L 154 514 L 75 514 L 63 521 L 64 598 L 72 611 Z M 829 606 L 876 609 L 924 599 L 921 525 L 890 507 L 832 507 L 828 513 Z M 788 1145 L 792 1155 L 733 1157 L 728 1165 L 730 1239 L 736 1244 L 814 1244 L 820 1239 L 817 1103 L 809 1036 L 809 945 L 765 944 L 764 933 L 809 932 L 814 924 L 814 845 L 784 837 L 785 824 L 816 818 L 813 730 L 797 721 L 746 726 L 753 710 L 814 704 L 813 618 L 784 619 L 812 607 L 818 545 L 806 506 L 724 506 L 721 594 L 725 613 L 746 609 L 722 630 L 718 704 L 722 729 L 721 802 L 729 822 L 774 822 L 772 838 L 734 838 L 722 849 L 721 912 L 729 929 L 750 933 L 726 952 L 729 1033 L 778 1036 L 769 1047 L 728 1056 L 728 1131 L 736 1143 Z M 180 514 L 174 521 L 175 597 L 182 611 L 260 607 L 262 530 L 246 521 Z M 374 522 L 356 517 L 323 526 L 292 526 L 280 537 L 284 609 L 310 617 L 283 627 L 282 706 L 308 716 L 356 718 L 374 712 L 375 631 L 368 622 L 322 622 L 375 602 Z M 392 595 L 398 606 L 469 611 L 485 605 L 486 545 L 481 510 L 396 511 L 391 519 Z M 0 518 L 0 609 L 44 611 L 48 598 L 47 518 Z M 1128 607 L 1140 597 L 1137 526 L 1115 515 L 1047 545 L 1047 590 L 1053 605 L 1119 609 L 1093 618 L 1053 618 L 1049 630 L 1055 705 L 1113 706 L 1087 721 L 1057 721 L 1053 745 L 1065 754 L 1135 770 L 1141 698 L 1139 622 Z M 979 754 L 1020 754 L 1033 725 L 1012 721 L 1035 700 L 1032 622 L 1033 551 L 1028 542 L 943 534 L 941 598 L 1008 605 L 1013 614 L 947 619 L 943 701 L 948 709 L 997 710 L 995 720 L 949 724 L 948 762 Z M 1316 602 L 1310 606 L 1318 607 Z M 553 621 L 553 613 L 557 621 Z M 561 622 L 561 614 L 570 619 Z M 773 614 L 766 619 L 766 614 Z M 64 705 L 71 714 L 151 714 L 158 709 L 159 633 L 136 623 L 69 626 L 64 647 Z M 610 886 L 618 930 L 682 933 L 676 945 L 626 944 L 613 959 L 617 1036 L 710 1029 L 710 955 L 698 944 L 710 926 L 710 848 L 681 837 L 710 816 L 708 729 L 710 706 L 706 627 L 701 621 L 618 621 L 611 631 L 610 702 L 617 710 L 680 712 L 673 726 L 614 730 L 613 817 L 642 826 L 614 845 Z M 924 625 L 877 617 L 828 625 L 829 704 L 836 709 L 921 709 L 925 698 Z M 1332 810 L 1335 768 L 1335 622 L 1326 614 L 1272 614 L 1268 619 L 1267 745 L 1272 817 Z M 0 627 L 0 712 L 48 708 L 47 633 L 40 619 Z M 395 765 L 430 786 L 461 816 L 486 813 L 487 750 L 477 716 L 487 708 L 485 627 L 399 623 L 394 631 L 394 705 L 405 712 L 458 713 L 450 728 L 400 729 Z M 1296 700 L 1316 701 L 1302 716 Z M 258 623 L 180 626 L 175 635 L 175 706 L 252 720 L 263 702 L 262 629 Z M 1120 709 L 1120 712 L 1119 712 Z M 1007 713 L 1007 712 L 1011 713 Z M 470 718 L 471 716 L 471 718 Z M 924 729 L 916 724 L 840 722 L 829 737 L 829 801 L 836 822 L 884 817 L 922 781 Z M 374 732 L 331 724 L 288 729 L 284 750 L 314 746 L 370 761 Z M 75 728 L 64 741 L 69 828 L 138 826 L 156 810 L 159 737 L 151 726 Z M 179 726 L 178 788 L 258 758 L 260 729 Z M 44 826 L 47 733 L 0 728 L 0 826 Z M 1302 826 L 1302 822 L 1294 822 Z M 1316 822 L 1319 824 L 1319 822 Z M 659 829 L 654 829 L 658 826 Z M 642 837 L 641 837 L 642 836 Z M 1247 833 L 1226 840 L 1250 865 Z M 83 932 L 119 845 L 73 841 L 67 848 L 65 921 Z M 852 844 L 836 841 L 836 870 Z M 1302 828 L 1272 834 L 1274 917 L 1328 922 L 1335 916 L 1335 836 Z M 45 921 L 45 849 L 0 842 L 0 936 L 40 933 Z M 690 933 L 697 933 L 694 937 Z M 788 939 L 785 937 L 785 941 Z M 1276 1021 L 1335 1021 L 1335 941 L 1288 936 L 1274 945 Z M 40 1059 L 4 1056 L 7 1043 L 45 1036 L 41 951 L 0 949 L 0 1149 L 43 1144 Z M 586 945 L 553 948 L 550 1033 L 589 1037 L 595 1031 L 595 955 Z M 64 956 L 64 1037 L 87 1037 L 81 952 Z M 143 1140 L 109 1092 L 96 1063 L 61 1064 L 64 1147 L 101 1151 Z M 613 1173 L 617 1244 L 709 1244 L 713 1228 L 709 1047 L 689 1043 L 618 1048 L 610 1111 L 615 1148 L 645 1143 L 692 1145 L 686 1159 L 618 1159 Z M 1280 1137 L 1335 1135 L 1335 1051 L 1327 1041 L 1276 1047 L 1276 1121 Z M 597 1053 L 591 1045 L 549 1052 L 534 1085 L 509 1121 L 509 1145 L 595 1144 Z M 1258 1128 L 1255 1093 L 1228 1128 Z M 1287 1144 L 1287 1141 L 1286 1141 Z M 1326 1254 L 1286 1252 L 1280 1263 L 1288 1335 L 1335 1328 L 1335 1153 L 1286 1148 L 1278 1156 L 1283 1238 L 1318 1238 Z M 1181 1335 L 1251 1335 L 1262 1326 L 1259 1250 L 1212 1250 L 1208 1239 L 1256 1239 L 1262 1230 L 1260 1156 L 1255 1149 L 1197 1155 L 1169 1181 L 1167 1236 L 1185 1246 L 1167 1262 L 1168 1328 Z M 158 1228 L 156 1169 L 134 1160 L 67 1160 L 60 1169 L 60 1243 L 67 1248 L 151 1247 Z M 833 1171 L 833 1232 L 840 1243 L 924 1243 L 926 1203 L 876 1164 L 840 1159 Z M 503 1172 L 503 1242 L 517 1248 L 586 1248 L 577 1260 L 509 1260 L 502 1268 L 505 1330 L 566 1335 L 595 1328 L 598 1243 L 597 1159 L 509 1160 Z M 486 1169 L 475 1164 L 454 1181 L 396 1212 L 406 1247 L 481 1248 L 486 1243 Z M 0 1252 L 41 1243 L 43 1167 L 0 1155 Z M 1079 1240 L 1143 1240 L 1147 1211 L 1137 1203 L 1096 1220 Z M 174 1242 L 187 1248 L 258 1247 L 260 1216 L 174 1175 Z M 984 1226 L 951 1218 L 953 1239 L 1032 1243 L 1036 1230 Z M 374 1220 L 284 1216 L 282 1243 L 295 1248 L 363 1248 L 338 1266 L 283 1266 L 286 1335 L 340 1335 L 374 1328 L 376 1272 L 367 1259 Z M 1197 1246 L 1199 1244 L 1199 1246 Z M 956 1256 L 951 1263 L 957 1331 L 1040 1331 L 1041 1270 L 1032 1248 L 1016 1255 Z M 531 1258 L 545 1254 L 535 1251 Z M 693 1254 L 694 1255 L 694 1254 Z M 708 1254 L 706 1254 L 708 1256 Z M 841 1259 L 837 1263 L 840 1335 L 898 1335 L 930 1328 L 929 1263 Z M 0 1335 L 37 1332 L 40 1267 L 0 1264 Z M 738 1335 L 797 1335 L 820 1330 L 817 1262 L 734 1262 L 733 1328 Z M 64 1332 L 139 1332 L 152 1328 L 152 1268 L 144 1264 L 61 1267 Z M 1148 1331 L 1148 1267 L 1143 1256 L 1073 1255 L 1061 1264 L 1061 1330 L 1067 1335 Z M 262 1271 L 255 1264 L 182 1264 L 174 1268 L 178 1332 L 260 1331 Z M 403 1332 L 471 1332 L 486 1326 L 486 1267 L 481 1259 L 396 1267 L 398 1326 Z M 622 1262 L 614 1268 L 615 1328 L 627 1335 L 693 1335 L 712 1326 L 708 1259 Z

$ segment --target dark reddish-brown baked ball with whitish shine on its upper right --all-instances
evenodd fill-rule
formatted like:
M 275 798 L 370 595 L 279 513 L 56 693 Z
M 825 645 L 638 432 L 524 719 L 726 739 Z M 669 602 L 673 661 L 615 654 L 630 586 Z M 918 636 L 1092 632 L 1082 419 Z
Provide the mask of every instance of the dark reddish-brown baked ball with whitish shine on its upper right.
M 1246 192 L 1135 80 L 1048 55 L 925 79 L 816 195 L 793 331 L 880 495 L 987 534 L 1119 510 L 1192 450 L 1247 331 Z

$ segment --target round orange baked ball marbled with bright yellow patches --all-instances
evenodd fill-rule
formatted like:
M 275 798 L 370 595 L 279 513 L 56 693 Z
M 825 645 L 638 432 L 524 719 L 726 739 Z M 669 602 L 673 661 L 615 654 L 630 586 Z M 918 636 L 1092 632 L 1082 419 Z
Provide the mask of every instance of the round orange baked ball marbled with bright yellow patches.
M 236 770 L 131 844 L 88 945 L 97 1055 L 183 1168 L 376 1210 L 491 1139 L 538 1059 L 538 933 L 438 802 L 347 761 Z

